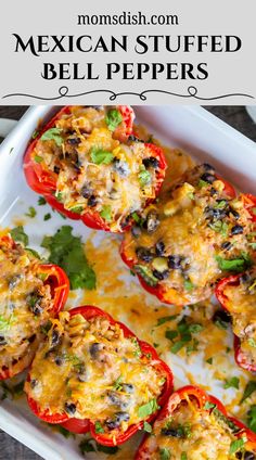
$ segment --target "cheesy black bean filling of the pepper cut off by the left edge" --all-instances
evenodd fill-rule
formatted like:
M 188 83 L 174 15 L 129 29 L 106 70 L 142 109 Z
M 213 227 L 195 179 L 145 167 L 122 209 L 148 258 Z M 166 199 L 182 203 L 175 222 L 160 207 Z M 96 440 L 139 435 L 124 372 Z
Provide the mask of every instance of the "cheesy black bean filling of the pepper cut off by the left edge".
M 0 240 L 0 362 L 16 373 L 33 359 L 52 308 L 51 291 L 38 276 L 38 260 L 9 238 Z

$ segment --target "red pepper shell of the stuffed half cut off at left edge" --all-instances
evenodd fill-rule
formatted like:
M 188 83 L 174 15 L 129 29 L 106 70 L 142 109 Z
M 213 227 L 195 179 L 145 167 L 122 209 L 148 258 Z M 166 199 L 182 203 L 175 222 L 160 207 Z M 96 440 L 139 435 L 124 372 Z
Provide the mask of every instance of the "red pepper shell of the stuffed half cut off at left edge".
M 16 243 L 9 235 L 2 237 L 1 242 L 3 242 L 10 248 L 15 248 L 16 246 Z M 39 265 L 37 274 L 43 276 L 43 284 L 49 284 L 51 288 L 53 306 L 49 310 L 49 314 L 50 316 L 55 317 L 66 303 L 69 292 L 69 280 L 62 268 L 53 264 Z M 29 365 L 24 363 L 24 368 L 20 366 L 18 372 L 15 372 L 14 369 L 10 370 L 4 367 L 0 368 L 0 380 L 14 376 L 16 373 L 24 371 L 27 366 Z

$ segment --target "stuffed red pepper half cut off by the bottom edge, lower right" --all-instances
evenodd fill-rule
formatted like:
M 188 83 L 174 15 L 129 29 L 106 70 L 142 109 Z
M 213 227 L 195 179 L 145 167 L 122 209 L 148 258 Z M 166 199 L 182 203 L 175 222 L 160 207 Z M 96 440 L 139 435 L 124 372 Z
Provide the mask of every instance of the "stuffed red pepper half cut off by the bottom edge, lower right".
M 255 460 L 256 434 L 196 386 L 172 393 L 136 460 Z

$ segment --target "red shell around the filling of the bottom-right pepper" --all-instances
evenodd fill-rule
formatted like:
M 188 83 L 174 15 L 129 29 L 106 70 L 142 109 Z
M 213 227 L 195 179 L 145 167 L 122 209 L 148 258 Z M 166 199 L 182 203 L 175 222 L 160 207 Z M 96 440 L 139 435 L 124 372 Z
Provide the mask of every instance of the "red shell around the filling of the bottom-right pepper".
M 183 386 L 179 388 L 177 392 L 172 393 L 172 395 L 170 395 L 168 403 L 161 410 L 157 419 L 154 422 L 153 434 L 154 434 L 155 424 L 158 424 L 162 421 L 164 422 L 165 419 L 171 417 L 171 414 L 177 409 L 177 407 L 182 401 L 185 403 L 188 400 L 196 401 L 199 411 L 202 411 L 202 416 L 204 412 L 205 413 L 214 412 L 217 419 L 219 418 L 221 420 L 227 421 L 227 425 L 230 426 L 231 430 L 233 429 L 232 433 L 238 439 L 242 437 L 246 437 L 246 442 L 243 447 L 246 450 L 249 450 L 249 451 L 253 450 L 254 452 L 256 451 L 256 434 L 253 433 L 249 429 L 247 429 L 247 426 L 245 426 L 238 419 L 230 417 L 227 413 L 225 406 L 222 405 L 222 403 L 220 403 L 219 399 L 217 399 L 216 397 L 212 395 L 208 395 L 202 388 L 197 386 L 193 386 L 193 385 Z M 151 439 L 151 436 L 149 435 L 144 436 L 136 453 L 135 460 L 150 460 L 151 458 L 153 458 L 151 457 L 152 447 L 150 446 L 150 443 L 149 443 L 150 439 Z M 219 440 L 216 439 L 216 443 L 219 443 Z M 193 442 L 191 442 L 191 448 L 193 448 Z

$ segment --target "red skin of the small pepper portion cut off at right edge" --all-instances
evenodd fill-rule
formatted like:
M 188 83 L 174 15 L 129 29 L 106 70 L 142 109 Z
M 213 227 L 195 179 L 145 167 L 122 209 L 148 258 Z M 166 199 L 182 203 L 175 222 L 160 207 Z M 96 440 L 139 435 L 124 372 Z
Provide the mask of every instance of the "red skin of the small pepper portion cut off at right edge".
M 217 299 L 219 301 L 221 307 L 225 310 L 227 310 L 231 316 L 232 316 L 232 310 L 229 308 L 228 297 L 225 295 L 225 290 L 229 285 L 232 285 L 232 286 L 239 285 L 240 279 L 243 274 L 244 273 L 239 273 L 239 274 L 232 274 L 231 277 L 228 277 L 228 278 L 223 278 L 222 280 L 218 282 L 215 290 L 215 295 Z M 256 372 L 256 365 L 252 365 L 246 361 L 246 357 L 241 349 L 241 341 L 236 335 L 234 335 L 233 347 L 234 347 L 234 359 L 238 366 L 240 366 L 243 369 L 246 369 L 249 372 Z

